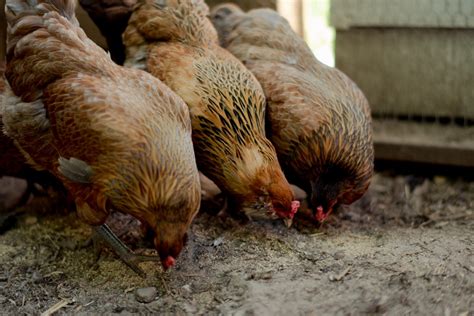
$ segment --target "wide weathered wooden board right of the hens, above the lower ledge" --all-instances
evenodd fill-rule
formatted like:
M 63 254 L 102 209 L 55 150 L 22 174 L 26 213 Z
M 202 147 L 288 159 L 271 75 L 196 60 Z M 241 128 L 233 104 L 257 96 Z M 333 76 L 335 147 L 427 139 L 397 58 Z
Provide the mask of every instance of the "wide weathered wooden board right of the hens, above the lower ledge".
M 374 113 L 473 119 L 473 48 L 474 29 L 352 28 L 336 33 L 336 67 Z

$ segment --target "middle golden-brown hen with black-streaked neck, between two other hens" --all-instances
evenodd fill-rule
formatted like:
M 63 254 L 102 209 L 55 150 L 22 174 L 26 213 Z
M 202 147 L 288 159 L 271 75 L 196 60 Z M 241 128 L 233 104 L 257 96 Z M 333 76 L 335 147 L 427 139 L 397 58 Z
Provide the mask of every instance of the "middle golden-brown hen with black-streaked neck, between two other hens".
M 145 0 L 123 34 L 125 65 L 147 70 L 188 104 L 199 169 L 230 211 L 293 217 L 299 202 L 265 137 L 255 77 L 219 46 L 202 0 Z

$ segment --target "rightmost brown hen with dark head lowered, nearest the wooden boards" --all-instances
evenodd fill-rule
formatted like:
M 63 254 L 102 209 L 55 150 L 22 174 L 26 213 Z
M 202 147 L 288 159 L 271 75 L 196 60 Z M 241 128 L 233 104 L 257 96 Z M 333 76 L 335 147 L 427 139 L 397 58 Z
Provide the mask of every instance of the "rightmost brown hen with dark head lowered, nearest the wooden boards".
M 369 104 L 341 71 L 320 63 L 277 12 L 213 9 L 220 43 L 257 77 L 268 102 L 268 134 L 288 180 L 310 192 L 323 221 L 367 190 L 374 149 Z

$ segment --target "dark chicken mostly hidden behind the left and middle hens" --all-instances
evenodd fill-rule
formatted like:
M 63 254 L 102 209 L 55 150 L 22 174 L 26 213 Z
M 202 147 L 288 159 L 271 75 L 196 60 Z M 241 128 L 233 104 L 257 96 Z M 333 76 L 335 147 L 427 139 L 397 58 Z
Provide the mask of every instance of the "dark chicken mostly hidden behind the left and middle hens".
M 137 0 L 79 0 L 79 3 L 105 37 L 112 60 L 122 65 L 125 61 L 122 33 Z

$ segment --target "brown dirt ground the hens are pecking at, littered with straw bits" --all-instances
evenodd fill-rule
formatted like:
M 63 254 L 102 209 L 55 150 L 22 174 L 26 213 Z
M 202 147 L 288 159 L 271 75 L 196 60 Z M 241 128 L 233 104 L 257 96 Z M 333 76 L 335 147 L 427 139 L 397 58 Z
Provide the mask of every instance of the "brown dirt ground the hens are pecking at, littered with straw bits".
M 203 213 L 177 267 L 144 263 L 146 279 L 40 200 L 0 235 L 1 314 L 474 315 L 474 182 L 379 173 L 320 228 Z M 144 247 L 134 221 L 110 222 Z

